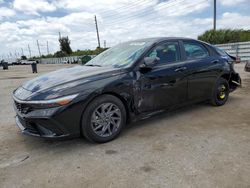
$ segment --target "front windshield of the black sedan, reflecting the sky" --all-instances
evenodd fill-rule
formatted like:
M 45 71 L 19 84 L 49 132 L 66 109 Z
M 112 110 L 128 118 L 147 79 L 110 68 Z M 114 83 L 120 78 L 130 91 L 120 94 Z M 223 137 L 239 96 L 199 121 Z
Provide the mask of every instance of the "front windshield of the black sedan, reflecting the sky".
M 129 67 L 132 65 L 148 47 L 150 42 L 134 41 L 118 44 L 92 60 L 85 65 L 106 67 L 111 66 L 115 68 Z

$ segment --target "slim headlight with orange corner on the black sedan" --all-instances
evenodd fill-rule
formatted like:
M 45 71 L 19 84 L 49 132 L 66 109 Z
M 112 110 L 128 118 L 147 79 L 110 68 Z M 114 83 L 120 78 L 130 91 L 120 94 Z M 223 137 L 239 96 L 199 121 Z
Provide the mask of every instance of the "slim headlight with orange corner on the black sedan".
M 60 98 L 50 99 L 50 100 L 37 100 L 37 101 L 19 101 L 16 99 L 15 100 L 20 103 L 29 104 L 35 108 L 52 108 L 56 106 L 64 106 L 64 105 L 69 104 L 74 98 L 77 97 L 77 95 L 78 94 L 68 95 L 65 97 L 60 97 Z

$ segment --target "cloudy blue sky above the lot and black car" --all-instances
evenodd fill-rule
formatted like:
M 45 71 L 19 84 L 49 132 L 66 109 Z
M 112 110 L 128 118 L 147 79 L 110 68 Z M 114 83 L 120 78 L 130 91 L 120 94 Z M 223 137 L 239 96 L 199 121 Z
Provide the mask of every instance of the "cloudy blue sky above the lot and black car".
M 73 50 L 147 37 L 197 38 L 213 28 L 213 0 L 0 0 L 0 58 L 60 49 L 58 33 Z M 217 0 L 217 28 L 250 29 L 250 0 Z

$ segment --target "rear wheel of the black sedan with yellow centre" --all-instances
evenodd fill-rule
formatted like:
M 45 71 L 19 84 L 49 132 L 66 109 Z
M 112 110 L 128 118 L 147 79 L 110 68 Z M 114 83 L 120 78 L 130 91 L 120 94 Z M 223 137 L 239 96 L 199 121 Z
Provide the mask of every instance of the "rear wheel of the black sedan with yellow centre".
M 224 78 L 219 78 L 213 89 L 211 104 L 213 106 L 222 106 L 227 102 L 229 96 L 229 84 Z

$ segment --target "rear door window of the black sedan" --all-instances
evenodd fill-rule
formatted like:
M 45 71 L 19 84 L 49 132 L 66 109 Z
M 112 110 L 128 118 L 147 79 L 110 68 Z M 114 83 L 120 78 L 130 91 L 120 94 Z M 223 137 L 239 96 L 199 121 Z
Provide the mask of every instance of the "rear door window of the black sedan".
M 208 50 L 202 44 L 184 41 L 183 45 L 188 60 L 209 57 Z

